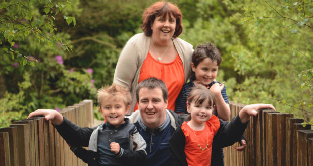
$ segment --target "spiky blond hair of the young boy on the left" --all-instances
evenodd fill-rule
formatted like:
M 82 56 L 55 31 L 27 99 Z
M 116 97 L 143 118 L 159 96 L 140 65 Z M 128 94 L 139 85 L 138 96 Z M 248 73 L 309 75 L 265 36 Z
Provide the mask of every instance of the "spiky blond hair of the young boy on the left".
M 106 85 L 98 90 L 98 103 L 101 106 L 103 99 L 106 97 L 121 97 L 125 103 L 125 106 L 130 105 L 131 96 L 128 88 L 113 83 L 111 86 Z

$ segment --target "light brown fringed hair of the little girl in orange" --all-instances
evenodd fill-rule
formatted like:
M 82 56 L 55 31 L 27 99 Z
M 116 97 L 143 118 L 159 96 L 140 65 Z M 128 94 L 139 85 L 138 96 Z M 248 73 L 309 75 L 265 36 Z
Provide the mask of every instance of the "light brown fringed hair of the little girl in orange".
M 214 106 L 216 104 L 216 98 L 213 93 L 204 85 L 197 84 L 196 86 L 191 87 L 191 91 L 187 97 L 187 105 L 190 105 L 192 102 L 195 104 L 202 104 L 206 99 L 208 99 L 208 105 Z M 215 111 L 216 107 L 214 107 L 213 113 Z M 191 119 L 191 116 L 189 116 L 188 119 Z

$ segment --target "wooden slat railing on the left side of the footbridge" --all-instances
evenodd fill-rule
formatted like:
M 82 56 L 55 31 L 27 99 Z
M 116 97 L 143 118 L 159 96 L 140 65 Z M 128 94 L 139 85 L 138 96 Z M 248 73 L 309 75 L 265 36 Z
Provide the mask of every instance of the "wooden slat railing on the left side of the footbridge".
M 93 101 L 84 100 L 60 113 L 82 127 L 93 125 Z M 0 128 L 1 166 L 83 166 L 51 122 L 43 117 L 12 122 Z

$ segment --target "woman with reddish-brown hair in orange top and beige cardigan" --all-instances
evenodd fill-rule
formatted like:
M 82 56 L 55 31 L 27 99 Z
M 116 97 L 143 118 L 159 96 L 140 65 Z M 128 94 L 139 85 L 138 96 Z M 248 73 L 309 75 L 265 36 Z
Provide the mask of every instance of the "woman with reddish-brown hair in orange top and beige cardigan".
M 183 31 L 182 14 L 169 2 L 156 2 L 143 13 L 144 33 L 133 36 L 123 48 L 114 82 L 130 89 L 130 112 L 137 110 L 135 88 L 139 82 L 156 77 L 169 91 L 167 108 L 175 109 L 175 100 L 191 74 L 192 45 L 177 38 Z

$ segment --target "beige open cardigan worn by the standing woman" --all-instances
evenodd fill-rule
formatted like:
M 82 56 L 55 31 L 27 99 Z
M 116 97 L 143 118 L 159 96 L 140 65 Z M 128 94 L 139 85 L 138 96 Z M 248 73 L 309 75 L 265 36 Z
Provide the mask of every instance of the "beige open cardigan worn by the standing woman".
M 132 101 L 128 114 L 131 114 L 135 108 L 136 86 L 138 85 L 141 66 L 149 51 L 150 40 L 151 37 L 144 33 L 136 34 L 130 38 L 124 46 L 115 68 L 113 82 L 130 89 Z M 173 39 L 173 43 L 183 62 L 186 82 L 191 75 L 190 63 L 193 48 L 191 44 L 179 38 Z M 176 100 L 176 98 L 172 100 Z

